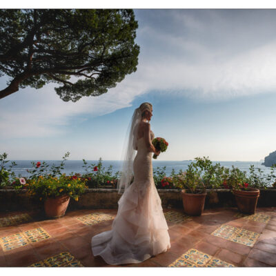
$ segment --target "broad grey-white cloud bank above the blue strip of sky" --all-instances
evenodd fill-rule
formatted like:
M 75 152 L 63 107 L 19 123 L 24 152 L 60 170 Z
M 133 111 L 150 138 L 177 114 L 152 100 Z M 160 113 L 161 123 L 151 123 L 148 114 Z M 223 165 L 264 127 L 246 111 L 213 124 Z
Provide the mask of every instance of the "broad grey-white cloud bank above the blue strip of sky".
M 77 103 L 61 101 L 52 84 L 1 99 L 0 138 L 62 135 L 72 118 L 126 108 L 151 90 L 213 100 L 276 91 L 275 10 L 135 12 L 137 72 Z

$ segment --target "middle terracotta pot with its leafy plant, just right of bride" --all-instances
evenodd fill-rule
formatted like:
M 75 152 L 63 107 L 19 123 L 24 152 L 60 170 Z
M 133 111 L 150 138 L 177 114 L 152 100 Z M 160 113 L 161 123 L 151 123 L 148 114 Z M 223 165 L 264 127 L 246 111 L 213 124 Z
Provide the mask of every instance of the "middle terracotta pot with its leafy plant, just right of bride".
M 176 186 L 182 188 L 181 197 L 184 212 L 187 215 L 199 216 L 204 210 L 206 188 L 198 170 L 188 165 L 188 170 L 177 177 Z

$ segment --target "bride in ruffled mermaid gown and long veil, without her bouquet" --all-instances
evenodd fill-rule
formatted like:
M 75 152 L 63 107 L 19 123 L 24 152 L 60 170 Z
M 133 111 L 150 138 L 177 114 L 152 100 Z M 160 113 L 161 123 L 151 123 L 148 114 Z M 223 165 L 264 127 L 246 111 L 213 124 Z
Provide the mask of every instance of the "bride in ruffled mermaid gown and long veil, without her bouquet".
M 152 152 L 160 152 L 151 143 L 151 117 L 150 103 L 135 109 L 118 184 L 119 193 L 123 189 L 124 193 L 117 216 L 112 230 L 92 237 L 93 255 L 100 255 L 108 264 L 137 264 L 170 248 L 168 225 L 152 177 Z

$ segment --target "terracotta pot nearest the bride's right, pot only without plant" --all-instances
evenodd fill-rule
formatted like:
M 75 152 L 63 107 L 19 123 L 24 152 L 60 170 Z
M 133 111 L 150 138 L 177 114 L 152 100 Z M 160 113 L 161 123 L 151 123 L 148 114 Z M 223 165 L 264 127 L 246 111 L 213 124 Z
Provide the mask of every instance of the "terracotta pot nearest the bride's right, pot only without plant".
M 190 194 L 181 190 L 184 212 L 187 215 L 199 216 L 204 210 L 206 193 Z

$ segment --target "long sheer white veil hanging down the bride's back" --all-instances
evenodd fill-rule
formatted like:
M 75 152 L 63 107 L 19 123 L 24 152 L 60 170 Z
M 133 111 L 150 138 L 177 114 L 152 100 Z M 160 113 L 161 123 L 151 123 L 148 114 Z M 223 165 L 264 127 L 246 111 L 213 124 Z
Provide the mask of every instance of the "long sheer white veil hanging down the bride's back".
M 123 162 L 121 166 L 121 178 L 118 181 L 117 190 L 118 193 L 123 193 L 124 190 L 130 186 L 130 182 L 133 173 L 133 160 L 135 159 L 135 149 L 136 149 L 136 141 L 137 141 L 137 126 L 141 121 L 141 110 L 136 108 L 130 124 L 128 126 L 128 131 L 126 132 L 126 141 L 124 144 L 123 150 Z

